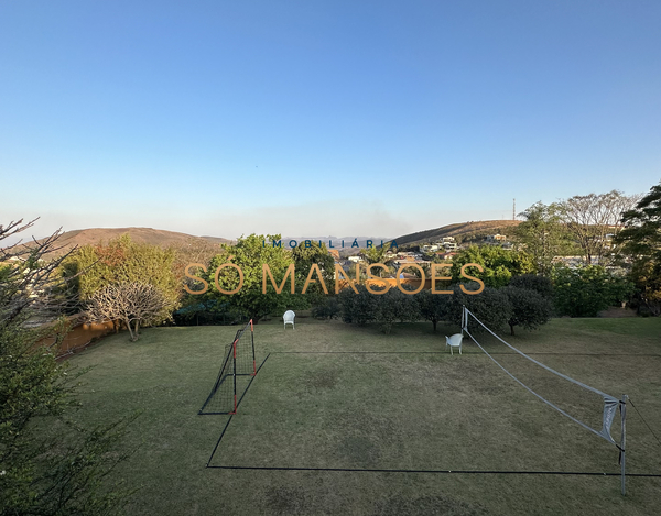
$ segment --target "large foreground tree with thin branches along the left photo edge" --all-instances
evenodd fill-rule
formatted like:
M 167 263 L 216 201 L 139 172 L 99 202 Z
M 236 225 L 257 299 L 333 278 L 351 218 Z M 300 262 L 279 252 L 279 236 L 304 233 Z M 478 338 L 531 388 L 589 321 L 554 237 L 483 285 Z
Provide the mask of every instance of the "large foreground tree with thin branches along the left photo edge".
M 0 241 L 32 227 L 0 226 Z M 55 360 L 45 337 L 67 331 L 56 251 L 59 232 L 31 244 L 0 248 L 0 515 L 108 515 L 128 492 L 106 475 L 128 454 L 119 441 L 129 420 L 87 428 L 73 419 L 76 378 Z M 66 440 L 62 436 L 66 432 Z

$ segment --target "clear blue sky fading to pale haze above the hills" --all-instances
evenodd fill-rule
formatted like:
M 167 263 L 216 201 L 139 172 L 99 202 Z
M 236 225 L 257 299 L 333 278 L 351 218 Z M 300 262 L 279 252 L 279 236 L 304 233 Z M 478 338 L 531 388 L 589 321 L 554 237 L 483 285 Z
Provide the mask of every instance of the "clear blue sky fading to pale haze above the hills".
M 0 224 L 398 237 L 661 179 L 661 2 L 0 2 Z

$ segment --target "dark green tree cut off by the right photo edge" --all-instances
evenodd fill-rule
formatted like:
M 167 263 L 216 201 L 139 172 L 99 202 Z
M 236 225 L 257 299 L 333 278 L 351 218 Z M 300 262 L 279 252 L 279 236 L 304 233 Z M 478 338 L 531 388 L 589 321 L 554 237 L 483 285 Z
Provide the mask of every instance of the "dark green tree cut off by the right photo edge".
M 650 314 L 661 314 L 661 183 L 622 215 L 616 237 L 631 260 L 629 277 Z

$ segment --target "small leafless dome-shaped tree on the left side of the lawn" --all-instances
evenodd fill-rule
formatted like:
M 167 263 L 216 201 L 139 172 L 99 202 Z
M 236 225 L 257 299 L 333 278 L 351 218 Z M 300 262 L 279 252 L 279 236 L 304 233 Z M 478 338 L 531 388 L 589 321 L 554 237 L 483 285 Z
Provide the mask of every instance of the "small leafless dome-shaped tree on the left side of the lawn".
M 138 340 L 140 326 L 158 325 L 172 314 L 172 303 L 163 293 L 148 283 L 121 283 L 106 285 L 93 294 L 88 301 L 90 320 L 121 320 Z

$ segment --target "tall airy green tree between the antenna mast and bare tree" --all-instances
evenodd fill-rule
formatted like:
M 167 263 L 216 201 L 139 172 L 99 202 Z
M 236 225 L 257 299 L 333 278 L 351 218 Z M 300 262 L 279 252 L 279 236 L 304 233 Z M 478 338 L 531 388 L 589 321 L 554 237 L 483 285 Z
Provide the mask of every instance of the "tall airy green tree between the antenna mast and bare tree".
M 559 205 L 535 202 L 519 213 L 525 220 L 514 230 L 516 240 L 532 256 L 537 273 L 543 276 L 551 274 L 553 260 L 566 254 L 572 246 L 560 213 Z

